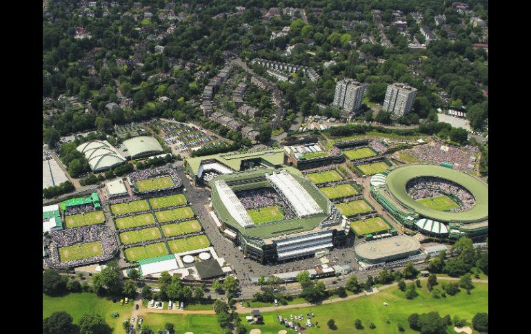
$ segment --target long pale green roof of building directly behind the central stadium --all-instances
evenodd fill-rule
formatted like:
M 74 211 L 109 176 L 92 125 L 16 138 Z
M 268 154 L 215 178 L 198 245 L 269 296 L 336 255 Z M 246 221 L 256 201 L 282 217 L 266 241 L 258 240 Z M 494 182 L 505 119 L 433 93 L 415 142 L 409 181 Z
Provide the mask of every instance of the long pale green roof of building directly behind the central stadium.
M 222 154 L 213 154 L 211 156 L 198 156 L 196 158 L 185 159 L 192 174 L 199 173 L 199 167 L 205 160 L 217 160 L 219 163 L 230 167 L 234 171 L 241 170 L 241 163 L 244 160 L 261 159 L 264 165 L 270 167 L 280 166 L 284 163 L 284 149 L 283 147 L 254 149 L 248 152 L 230 152 Z

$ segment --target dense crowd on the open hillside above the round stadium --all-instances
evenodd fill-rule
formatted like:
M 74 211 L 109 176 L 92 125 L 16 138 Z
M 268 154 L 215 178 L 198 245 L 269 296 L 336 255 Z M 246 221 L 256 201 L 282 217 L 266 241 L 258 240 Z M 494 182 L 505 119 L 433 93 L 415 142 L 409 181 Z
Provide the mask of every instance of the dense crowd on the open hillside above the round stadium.
M 450 163 L 454 166 L 454 169 L 465 170 L 474 161 L 474 154 L 479 154 L 479 149 L 471 145 L 454 147 L 434 142 L 428 145 L 419 145 L 403 152 L 415 156 L 421 163 L 430 163 L 432 165 Z

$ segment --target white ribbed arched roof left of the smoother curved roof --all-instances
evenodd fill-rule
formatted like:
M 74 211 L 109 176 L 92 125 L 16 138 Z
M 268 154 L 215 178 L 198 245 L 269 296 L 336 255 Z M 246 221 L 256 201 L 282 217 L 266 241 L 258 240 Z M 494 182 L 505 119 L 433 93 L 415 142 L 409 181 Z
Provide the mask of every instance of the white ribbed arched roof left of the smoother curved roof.
M 77 147 L 85 155 L 92 171 L 104 171 L 126 162 L 107 140 L 92 140 Z

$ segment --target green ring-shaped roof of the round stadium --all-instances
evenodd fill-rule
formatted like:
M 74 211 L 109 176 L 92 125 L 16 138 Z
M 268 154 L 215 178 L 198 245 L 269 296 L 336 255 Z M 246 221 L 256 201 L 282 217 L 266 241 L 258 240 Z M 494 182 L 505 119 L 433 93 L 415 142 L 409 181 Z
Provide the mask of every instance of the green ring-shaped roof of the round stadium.
M 472 209 L 461 212 L 444 212 L 419 204 L 405 191 L 405 185 L 413 178 L 430 176 L 443 178 L 465 187 L 476 199 Z M 441 222 L 479 222 L 488 219 L 488 185 L 468 174 L 436 165 L 407 165 L 392 169 L 385 181 L 388 191 L 401 205 L 417 211 L 421 216 Z

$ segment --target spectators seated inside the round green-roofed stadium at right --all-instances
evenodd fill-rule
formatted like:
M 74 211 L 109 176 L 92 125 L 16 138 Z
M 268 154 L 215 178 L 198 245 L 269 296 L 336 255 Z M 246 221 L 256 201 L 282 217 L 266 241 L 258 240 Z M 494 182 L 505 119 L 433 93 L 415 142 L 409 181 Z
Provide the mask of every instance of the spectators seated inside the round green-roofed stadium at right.
M 421 177 L 415 178 L 405 185 L 408 195 L 414 200 L 432 198 L 435 196 L 450 195 L 457 200 L 459 207 L 448 210 L 449 212 L 461 212 L 472 209 L 476 200 L 470 191 L 455 182 L 442 178 Z

